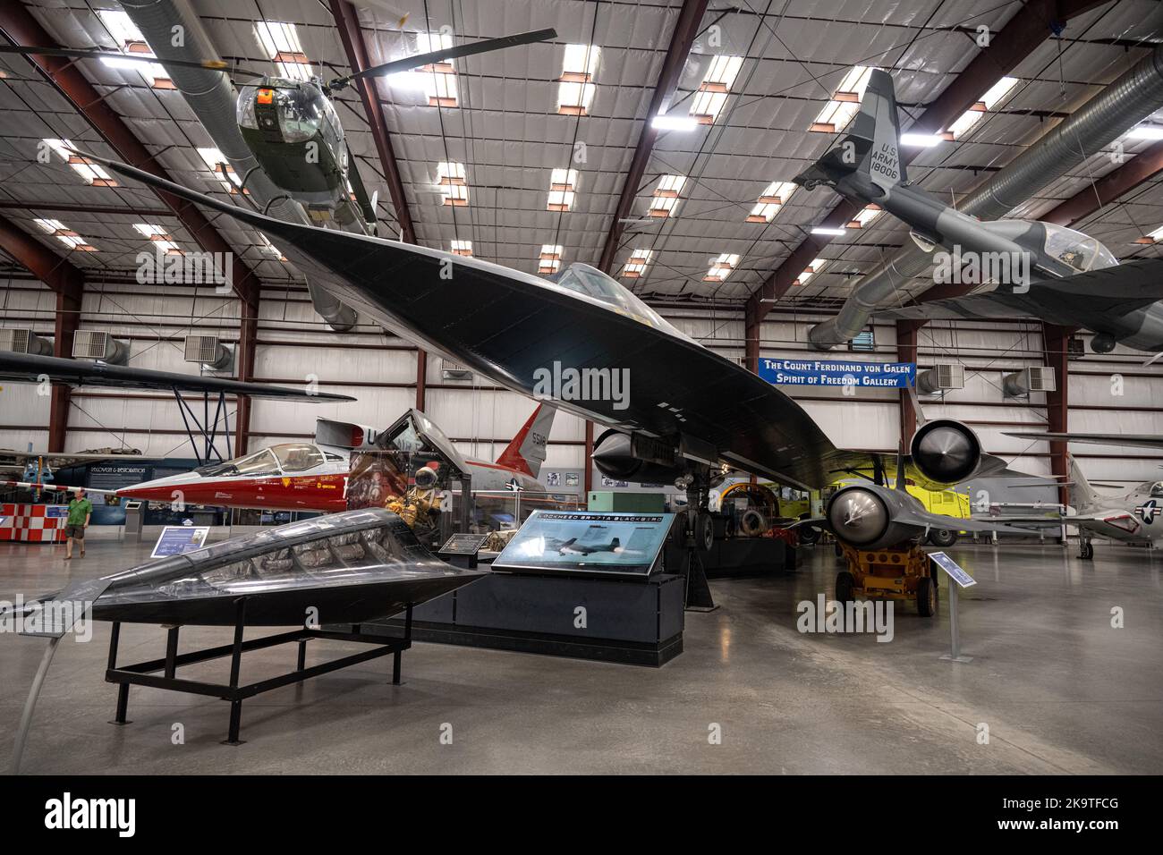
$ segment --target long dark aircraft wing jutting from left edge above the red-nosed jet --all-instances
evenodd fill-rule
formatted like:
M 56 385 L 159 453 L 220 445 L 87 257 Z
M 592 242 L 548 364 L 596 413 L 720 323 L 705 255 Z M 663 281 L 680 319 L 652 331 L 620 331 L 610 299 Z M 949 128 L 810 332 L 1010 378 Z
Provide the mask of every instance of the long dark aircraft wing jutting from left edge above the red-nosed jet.
M 265 383 L 245 383 L 222 377 L 180 375 L 173 371 L 154 371 L 129 365 L 109 365 L 102 362 L 64 359 L 56 356 L 36 356 L 0 351 L 0 380 L 9 383 L 41 383 L 44 378 L 70 386 L 112 386 L 115 389 L 162 389 L 173 392 L 226 392 L 251 398 L 276 398 L 307 404 L 354 401 L 345 394 L 312 392 L 307 389 L 270 386 Z

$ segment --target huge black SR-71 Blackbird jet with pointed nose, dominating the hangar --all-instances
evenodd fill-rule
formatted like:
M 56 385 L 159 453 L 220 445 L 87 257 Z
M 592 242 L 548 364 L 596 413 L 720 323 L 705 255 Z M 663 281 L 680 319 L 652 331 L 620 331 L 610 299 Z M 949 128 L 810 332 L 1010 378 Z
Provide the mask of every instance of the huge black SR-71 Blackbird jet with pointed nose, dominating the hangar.
M 134 166 L 78 154 L 257 228 L 285 245 L 287 257 L 315 285 L 514 392 L 543 397 L 540 384 L 550 366 L 565 365 L 593 379 L 563 385 L 554 401 L 613 426 L 594 454 L 611 477 L 688 477 L 691 506 L 702 508 L 711 471 L 723 464 L 821 489 L 836 473 L 870 463 L 869 453 L 837 449 L 794 400 L 684 335 L 586 264 L 547 280 L 426 247 L 283 222 Z M 600 379 L 608 380 L 612 370 L 629 371 L 626 394 L 612 394 L 608 384 L 602 390 Z M 983 455 L 969 427 L 949 419 L 922 425 L 909 451 L 914 476 L 941 484 L 1005 468 Z M 883 471 L 879 456 L 872 463 Z M 826 525 L 841 539 L 877 549 L 923 535 L 929 527 L 949 527 L 949 518 L 927 512 L 880 480 L 833 497 Z M 701 513 L 699 520 L 700 528 L 709 527 L 709 515 Z M 993 528 L 971 520 L 956 525 Z

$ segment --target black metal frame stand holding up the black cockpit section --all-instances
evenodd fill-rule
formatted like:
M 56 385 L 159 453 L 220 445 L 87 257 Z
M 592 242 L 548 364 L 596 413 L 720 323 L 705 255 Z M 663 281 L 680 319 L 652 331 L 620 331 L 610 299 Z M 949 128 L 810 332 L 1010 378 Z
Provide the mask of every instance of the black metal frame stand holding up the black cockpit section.
M 230 727 L 227 739 L 223 740 L 222 744 L 238 746 L 243 742 L 243 740 L 238 739 L 238 729 L 242 726 L 242 701 L 245 698 L 252 698 L 262 692 L 269 692 L 272 689 L 280 689 L 281 686 L 291 685 L 292 683 L 301 683 L 311 677 L 317 677 L 322 674 L 337 671 L 341 668 L 356 665 L 361 662 L 368 662 L 369 660 L 386 656 L 387 654 L 393 654 L 392 683 L 399 685 L 401 655 L 405 650 L 412 647 L 411 605 L 407 607 L 406 612 L 402 639 L 394 639 L 385 635 L 366 635 L 361 632 L 359 625 L 355 624 L 352 625 L 350 633 L 340 633 L 327 629 L 308 629 L 304 627 L 301 629 L 292 629 L 288 633 L 279 633 L 277 635 L 267 635 L 262 639 L 243 641 L 242 634 L 245 628 L 245 617 L 247 598 L 243 597 L 237 600 L 237 614 L 234 625 L 234 642 L 230 644 L 208 647 L 202 650 L 194 650 L 192 653 L 179 655 L 178 630 L 181 627 L 171 626 L 166 628 L 165 658 L 150 660 L 149 662 L 140 662 L 134 665 L 122 665 L 120 668 L 117 667 L 117 641 L 121 636 L 121 624 L 114 622 L 113 633 L 109 637 L 109 664 L 105 671 L 105 682 L 117 684 L 117 711 L 115 718 L 109 724 L 133 724 L 126 719 L 126 714 L 129 710 L 130 685 L 152 686 L 154 689 L 167 689 L 173 692 L 188 692 L 191 694 L 207 694 L 230 701 Z M 374 644 L 374 647 L 370 650 L 364 650 L 363 653 L 343 656 L 337 660 L 331 660 L 330 662 L 323 662 L 307 668 L 307 642 L 312 639 L 358 641 L 366 644 Z M 261 650 L 265 647 L 274 647 L 277 644 L 287 644 L 291 642 L 297 642 L 299 646 L 295 670 L 281 674 L 278 677 L 258 681 L 257 683 L 238 685 L 238 678 L 242 670 L 242 654 L 244 651 Z M 183 665 L 191 665 L 197 662 L 207 662 L 209 660 L 222 658 L 224 656 L 230 657 L 230 682 L 228 685 L 223 685 L 221 683 L 202 683 L 200 681 L 183 679 L 176 676 L 178 668 Z M 162 674 L 158 675 L 156 674 L 157 671 L 162 671 Z

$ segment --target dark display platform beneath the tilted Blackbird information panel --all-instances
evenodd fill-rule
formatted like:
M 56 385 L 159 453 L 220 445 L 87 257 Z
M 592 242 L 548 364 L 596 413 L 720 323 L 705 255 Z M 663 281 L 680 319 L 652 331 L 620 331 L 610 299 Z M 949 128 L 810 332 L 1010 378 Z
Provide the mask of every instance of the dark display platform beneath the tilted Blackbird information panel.
M 404 625 L 395 615 L 363 632 L 399 636 Z M 412 639 L 658 668 L 683 651 L 683 577 L 493 572 L 416 606 Z

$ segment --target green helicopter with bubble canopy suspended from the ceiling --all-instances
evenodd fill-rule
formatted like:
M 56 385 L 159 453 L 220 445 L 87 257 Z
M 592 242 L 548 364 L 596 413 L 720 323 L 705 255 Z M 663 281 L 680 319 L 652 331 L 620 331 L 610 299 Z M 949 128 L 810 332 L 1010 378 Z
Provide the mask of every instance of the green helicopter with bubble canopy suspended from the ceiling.
M 324 81 L 321 77 L 298 80 L 231 67 L 222 60 L 187 62 L 160 59 L 149 55 L 122 54 L 94 48 L 26 48 L 0 45 L 0 54 L 55 56 L 70 59 L 102 59 L 159 63 L 163 66 L 208 69 L 231 77 L 257 78 L 238 91 L 236 121 L 243 140 L 271 181 L 287 197 L 300 202 L 319 225 L 335 221 L 347 227 L 356 222 L 369 234 L 376 233 L 377 193 L 368 194 L 359 170 L 348 148 L 343 126 L 333 102 L 336 92 L 354 81 L 423 69 L 449 59 L 487 54 L 521 44 L 557 37 L 557 30 L 542 29 L 499 38 L 486 38 L 427 54 L 414 54 Z M 254 171 L 254 170 L 251 170 Z M 249 173 L 235 181 L 245 190 Z M 355 197 L 352 205 L 352 195 Z M 274 200 L 272 200 L 274 201 Z M 267 204 L 270 207 L 270 202 Z

